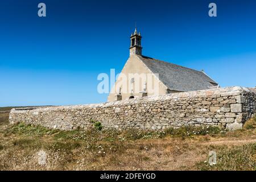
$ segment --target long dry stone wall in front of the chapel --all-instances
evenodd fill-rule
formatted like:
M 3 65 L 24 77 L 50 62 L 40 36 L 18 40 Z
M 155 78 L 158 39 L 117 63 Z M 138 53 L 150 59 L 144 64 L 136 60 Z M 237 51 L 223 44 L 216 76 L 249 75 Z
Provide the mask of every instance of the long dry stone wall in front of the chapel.
M 256 94 L 236 86 L 104 104 L 13 109 L 9 121 L 61 130 L 90 129 L 92 121 L 101 122 L 104 129 L 118 130 L 163 130 L 185 125 L 236 130 L 255 111 Z

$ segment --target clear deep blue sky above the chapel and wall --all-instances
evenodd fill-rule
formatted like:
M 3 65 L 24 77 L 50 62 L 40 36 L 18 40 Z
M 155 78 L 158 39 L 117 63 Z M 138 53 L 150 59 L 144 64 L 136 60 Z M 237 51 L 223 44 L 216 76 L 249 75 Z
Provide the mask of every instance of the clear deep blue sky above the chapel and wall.
M 106 101 L 97 76 L 121 72 L 135 22 L 143 55 L 204 69 L 222 87 L 254 87 L 255 9 L 255 0 L 1 1 L 0 106 Z

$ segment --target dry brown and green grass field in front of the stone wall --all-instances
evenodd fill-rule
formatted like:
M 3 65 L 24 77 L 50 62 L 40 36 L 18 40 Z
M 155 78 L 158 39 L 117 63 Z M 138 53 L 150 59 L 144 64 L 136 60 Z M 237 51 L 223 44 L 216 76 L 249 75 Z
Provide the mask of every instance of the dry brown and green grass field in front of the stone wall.
M 59 131 L 0 125 L 0 170 L 255 170 L 256 130 L 183 127 L 150 131 Z M 46 152 L 46 164 L 38 152 Z M 208 152 L 217 165 L 208 166 Z

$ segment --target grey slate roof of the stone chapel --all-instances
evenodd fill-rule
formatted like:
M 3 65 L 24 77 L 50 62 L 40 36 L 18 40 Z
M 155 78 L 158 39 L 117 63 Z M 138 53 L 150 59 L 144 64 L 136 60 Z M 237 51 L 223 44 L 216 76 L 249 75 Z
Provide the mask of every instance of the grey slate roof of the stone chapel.
M 180 65 L 156 60 L 151 57 L 138 57 L 153 73 L 159 74 L 159 80 L 170 90 L 186 92 L 209 89 L 210 86 L 218 85 L 217 82 L 202 71 L 181 67 Z

